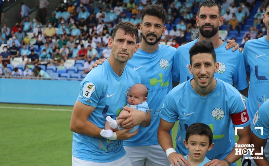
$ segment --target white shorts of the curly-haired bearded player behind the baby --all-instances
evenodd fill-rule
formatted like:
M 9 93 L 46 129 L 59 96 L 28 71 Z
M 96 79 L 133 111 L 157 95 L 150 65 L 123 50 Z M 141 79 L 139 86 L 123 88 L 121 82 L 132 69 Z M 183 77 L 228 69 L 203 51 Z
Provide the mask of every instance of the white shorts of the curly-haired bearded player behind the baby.
M 169 166 L 166 153 L 160 144 L 148 146 L 123 146 L 133 166 Z

